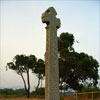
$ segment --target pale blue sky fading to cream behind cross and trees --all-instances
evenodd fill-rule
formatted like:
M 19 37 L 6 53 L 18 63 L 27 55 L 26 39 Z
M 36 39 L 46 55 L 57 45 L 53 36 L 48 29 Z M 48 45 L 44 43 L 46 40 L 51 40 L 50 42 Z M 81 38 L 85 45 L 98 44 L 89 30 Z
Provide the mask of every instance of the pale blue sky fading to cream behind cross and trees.
M 100 64 L 99 0 L 2 0 L 0 3 L 0 88 L 23 87 L 23 81 L 15 71 L 6 71 L 6 64 L 15 55 L 33 54 L 44 59 L 46 24 L 42 23 L 41 14 L 48 7 L 54 7 L 57 18 L 61 20 L 57 35 L 72 33 L 75 40 L 79 41 L 74 43 L 75 50 L 93 56 Z M 37 78 L 30 73 L 30 79 L 33 89 Z

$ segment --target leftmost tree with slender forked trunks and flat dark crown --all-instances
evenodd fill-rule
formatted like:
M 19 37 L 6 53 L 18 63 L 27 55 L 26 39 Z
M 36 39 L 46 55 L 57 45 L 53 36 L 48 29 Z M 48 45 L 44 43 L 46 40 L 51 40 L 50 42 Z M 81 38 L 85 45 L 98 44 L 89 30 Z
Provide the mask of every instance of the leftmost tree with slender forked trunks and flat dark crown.
M 7 68 L 16 71 L 18 75 L 21 76 L 24 82 L 24 88 L 27 93 L 27 98 L 30 97 L 30 70 L 34 69 L 36 66 L 37 58 L 34 55 L 16 55 L 12 62 L 7 63 Z M 23 74 L 27 75 L 27 85 Z

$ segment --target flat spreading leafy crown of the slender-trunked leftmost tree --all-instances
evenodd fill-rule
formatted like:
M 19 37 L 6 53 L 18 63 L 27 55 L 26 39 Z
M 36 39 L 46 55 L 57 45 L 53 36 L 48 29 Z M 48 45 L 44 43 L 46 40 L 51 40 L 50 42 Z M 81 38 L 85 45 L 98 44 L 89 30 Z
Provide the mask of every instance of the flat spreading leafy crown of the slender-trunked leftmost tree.
M 34 55 L 16 55 L 13 61 L 7 63 L 7 68 L 17 72 L 17 74 L 26 73 L 29 69 L 33 69 L 36 66 L 37 58 Z

